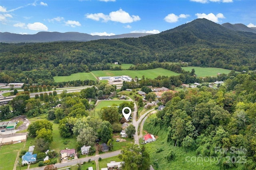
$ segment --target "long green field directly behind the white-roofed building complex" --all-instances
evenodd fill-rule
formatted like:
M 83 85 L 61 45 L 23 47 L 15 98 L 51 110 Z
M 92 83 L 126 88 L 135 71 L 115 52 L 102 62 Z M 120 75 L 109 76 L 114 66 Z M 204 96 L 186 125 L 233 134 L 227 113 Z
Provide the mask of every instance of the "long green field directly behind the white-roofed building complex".
M 92 71 L 96 77 L 103 76 L 130 76 L 135 78 L 142 78 L 144 75 L 145 78 L 156 78 L 157 76 L 178 76 L 179 74 L 164 68 L 154 68 L 150 70 L 103 70 L 103 71 Z

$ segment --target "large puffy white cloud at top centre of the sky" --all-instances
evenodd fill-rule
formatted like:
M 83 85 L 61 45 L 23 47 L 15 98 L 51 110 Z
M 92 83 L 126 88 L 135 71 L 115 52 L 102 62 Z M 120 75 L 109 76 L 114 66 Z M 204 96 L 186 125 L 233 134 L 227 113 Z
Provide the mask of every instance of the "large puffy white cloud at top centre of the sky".
M 120 23 L 132 23 L 134 21 L 139 21 L 140 17 L 132 15 L 128 12 L 123 11 L 122 9 L 118 11 L 113 11 L 110 12 L 109 15 L 105 15 L 103 13 L 97 13 L 97 14 L 85 14 L 86 18 L 92 19 L 92 20 L 103 20 L 104 22 L 106 21 L 116 21 Z

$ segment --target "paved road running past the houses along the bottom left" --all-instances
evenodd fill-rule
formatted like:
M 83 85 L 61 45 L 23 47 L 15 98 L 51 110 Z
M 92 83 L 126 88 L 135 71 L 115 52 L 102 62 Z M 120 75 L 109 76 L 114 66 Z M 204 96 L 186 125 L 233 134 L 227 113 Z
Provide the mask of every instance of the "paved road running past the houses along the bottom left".
M 63 162 L 63 163 L 58 163 L 55 164 L 54 166 L 56 166 L 57 168 L 62 168 L 62 167 L 66 167 L 66 166 L 72 166 L 72 165 L 76 165 L 76 164 L 80 164 L 83 162 L 88 162 L 88 160 L 90 159 L 91 161 L 94 160 L 98 160 L 99 158 L 110 158 L 113 156 L 117 156 L 118 154 L 120 154 L 121 151 L 117 150 L 114 152 L 109 152 L 109 153 L 105 153 L 105 154 L 100 154 L 100 155 L 95 155 L 95 156 L 88 156 L 86 158 L 80 158 L 80 159 L 76 159 L 76 160 L 70 160 L 68 162 Z M 37 167 L 37 168 L 31 168 L 30 170 L 44 170 L 45 166 L 42 167 Z

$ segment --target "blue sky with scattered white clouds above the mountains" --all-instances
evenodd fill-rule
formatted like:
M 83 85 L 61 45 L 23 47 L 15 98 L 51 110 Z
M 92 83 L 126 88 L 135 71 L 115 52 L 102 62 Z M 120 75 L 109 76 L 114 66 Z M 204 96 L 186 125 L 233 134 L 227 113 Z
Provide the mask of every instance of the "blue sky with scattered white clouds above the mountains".
M 0 31 L 160 33 L 197 18 L 256 27 L 256 0 L 1 0 Z

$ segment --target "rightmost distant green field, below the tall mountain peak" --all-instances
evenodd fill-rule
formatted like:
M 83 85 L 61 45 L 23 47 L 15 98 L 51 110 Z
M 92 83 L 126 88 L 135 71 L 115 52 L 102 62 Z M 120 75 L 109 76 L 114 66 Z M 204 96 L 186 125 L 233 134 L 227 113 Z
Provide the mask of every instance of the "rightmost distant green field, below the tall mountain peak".
M 195 74 L 198 77 L 206 77 L 206 76 L 217 76 L 218 73 L 224 73 L 224 74 L 228 74 L 230 73 L 231 70 L 228 69 L 224 69 L 224 68 L 212 68 L 212 67 L 182 67 L 182 69 L 186 70 L 186 71 L 190 71 L 192 69 L 195 69 Z

